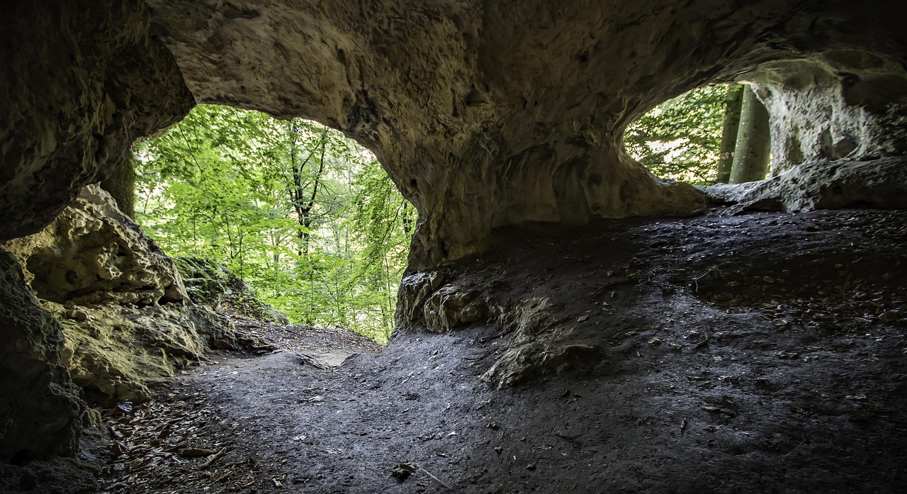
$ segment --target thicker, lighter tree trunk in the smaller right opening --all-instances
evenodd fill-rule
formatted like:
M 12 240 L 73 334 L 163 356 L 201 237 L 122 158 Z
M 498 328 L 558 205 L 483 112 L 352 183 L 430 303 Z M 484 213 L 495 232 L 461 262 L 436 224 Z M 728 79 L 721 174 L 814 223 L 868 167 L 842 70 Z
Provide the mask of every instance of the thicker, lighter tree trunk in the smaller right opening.
M 771 144 L 768 111 L 756 98 L 753 89 L 747 85 L 743 92 L 743 102 L 740 104 L 740 130 L 737 131 L 734 147 L 731 183 L 765 179 Z

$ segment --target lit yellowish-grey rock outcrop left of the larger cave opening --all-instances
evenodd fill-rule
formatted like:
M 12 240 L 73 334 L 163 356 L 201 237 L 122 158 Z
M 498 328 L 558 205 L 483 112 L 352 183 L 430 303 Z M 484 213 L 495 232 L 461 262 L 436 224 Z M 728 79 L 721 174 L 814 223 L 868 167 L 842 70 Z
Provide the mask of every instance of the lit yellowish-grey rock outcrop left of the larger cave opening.
M 62 361 L 95 404 L 145 399 L 206 346 L 239 346 L 232 324 L 190 301 L 171 258 L 96 185 L 48 228 L 2 247 L 62 324 Z

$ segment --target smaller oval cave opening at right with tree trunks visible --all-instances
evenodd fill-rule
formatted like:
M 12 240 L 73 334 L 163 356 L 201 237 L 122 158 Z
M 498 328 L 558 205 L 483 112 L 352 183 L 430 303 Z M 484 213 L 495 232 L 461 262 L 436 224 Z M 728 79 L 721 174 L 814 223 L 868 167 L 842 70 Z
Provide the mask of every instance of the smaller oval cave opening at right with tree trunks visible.
M 768 113 L 748 84 L 685 92 L 624 132 L 629 156 L 653 175 L 692 185 L 765 179 L 770 146 Z

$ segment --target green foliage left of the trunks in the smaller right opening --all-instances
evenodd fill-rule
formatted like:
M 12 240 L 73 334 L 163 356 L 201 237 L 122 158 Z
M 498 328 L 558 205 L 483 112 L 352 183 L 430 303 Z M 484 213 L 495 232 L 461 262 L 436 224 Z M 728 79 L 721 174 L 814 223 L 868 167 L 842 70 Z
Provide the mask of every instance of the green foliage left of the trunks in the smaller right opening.
M 726 85 L 704 86 L 659 104 L 627 128 L 628 154 L 660 178 L 713 183 L 726 93 Z

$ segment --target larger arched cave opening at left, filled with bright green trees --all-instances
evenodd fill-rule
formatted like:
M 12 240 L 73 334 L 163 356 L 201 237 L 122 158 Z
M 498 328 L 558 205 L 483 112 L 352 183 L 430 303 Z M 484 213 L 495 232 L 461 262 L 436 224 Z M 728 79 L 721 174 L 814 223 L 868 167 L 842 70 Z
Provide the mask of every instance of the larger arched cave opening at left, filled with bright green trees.
M 199 105 L 139 141 L 131 165 L 133 216 L 197 302 L 387 341 L 415 211 L 356 141 Z

